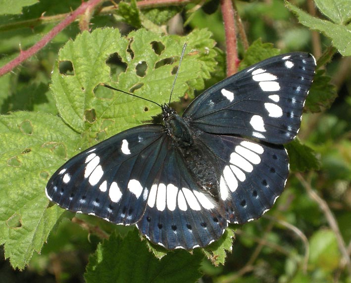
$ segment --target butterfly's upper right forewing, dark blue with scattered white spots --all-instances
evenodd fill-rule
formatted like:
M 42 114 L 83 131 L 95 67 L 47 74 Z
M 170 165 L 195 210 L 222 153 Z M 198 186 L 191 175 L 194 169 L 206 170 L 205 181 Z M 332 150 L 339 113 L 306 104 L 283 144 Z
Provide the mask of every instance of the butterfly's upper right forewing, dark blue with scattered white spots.
M 208 133 L 290 142 L 300 128 L 315 65 L 302 52 L 271 57 L 207 89 L 183 117 Z

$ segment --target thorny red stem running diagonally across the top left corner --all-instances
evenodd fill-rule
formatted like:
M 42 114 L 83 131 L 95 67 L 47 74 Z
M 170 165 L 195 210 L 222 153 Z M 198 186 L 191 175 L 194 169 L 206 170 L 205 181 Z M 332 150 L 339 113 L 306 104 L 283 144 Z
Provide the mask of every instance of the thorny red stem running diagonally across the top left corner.
M 87 9 L 93 9 L 98 5 L 102 0 L 89 0 L 83 2 L 75 11 L 68 14 L 68 16 L 61 21 L 57 26 L 55 26 L 49 33 L 47 33 L 40 41 L 35 45 L 20 52 L 20 54 L 14 58 L 12 61 L 8 62 L 6 65 L 0 68 L 0 76 L 8 73 L 13 68 L 21 64 L 24 60 L 28 59 L 33 54 L 37 53 L 40 49 L 45 47 L 52 38 L 54 38 L 60 31 L 62 31 L 66 26 L 72 23 L 79 15 L 84 14 Z

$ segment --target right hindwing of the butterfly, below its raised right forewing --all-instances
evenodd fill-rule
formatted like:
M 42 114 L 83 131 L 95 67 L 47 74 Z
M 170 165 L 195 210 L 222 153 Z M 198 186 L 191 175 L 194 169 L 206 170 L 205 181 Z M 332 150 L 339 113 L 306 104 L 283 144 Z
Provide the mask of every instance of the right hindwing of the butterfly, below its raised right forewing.
M 282 145 L 203 133 L 201 143 L 218 168 L 219 203 L 230 223 L 259 218 L 283 192 L 289 175 Z

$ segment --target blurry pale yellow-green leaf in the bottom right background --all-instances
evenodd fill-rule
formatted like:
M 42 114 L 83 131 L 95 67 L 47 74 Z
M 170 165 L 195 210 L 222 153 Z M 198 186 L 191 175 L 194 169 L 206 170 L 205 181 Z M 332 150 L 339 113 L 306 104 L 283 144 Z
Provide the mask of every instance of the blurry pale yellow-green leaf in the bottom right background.
M 309 240 L 309 263 L 326 272 L 337 269 L 340 263 L 340 251 L 335 234 L 331 230 L 319 230 Z

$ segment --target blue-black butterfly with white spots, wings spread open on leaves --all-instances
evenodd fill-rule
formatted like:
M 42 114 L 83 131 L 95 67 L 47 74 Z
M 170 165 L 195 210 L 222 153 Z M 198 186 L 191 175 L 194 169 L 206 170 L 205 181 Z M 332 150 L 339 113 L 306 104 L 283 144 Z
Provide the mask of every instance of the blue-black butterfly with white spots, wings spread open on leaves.
M 289 174 L 282 145 L 297 135 L 315 70 L 312 55 L 266 59 L 212 86 L 180 117 L 121 132 L 79 153 L 50 178 L 65 209 L 136 224 L 167 249 L 218 239 L 228 223 L 259 218 Z

